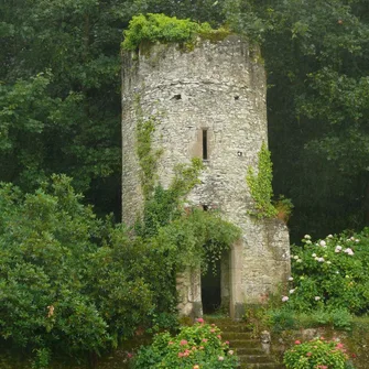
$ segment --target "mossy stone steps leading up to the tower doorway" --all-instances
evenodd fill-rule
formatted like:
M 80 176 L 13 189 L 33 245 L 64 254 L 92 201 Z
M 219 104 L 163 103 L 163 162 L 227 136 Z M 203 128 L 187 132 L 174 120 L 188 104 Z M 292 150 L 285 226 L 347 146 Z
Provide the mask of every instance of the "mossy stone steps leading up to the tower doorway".
M 207 318 L 206 323 L 216 324 L 223 332 L 223 340 L 229 340 L 231 349 L 240 359 L 240 369 L 284 369 L 275 358 L 263 348 L 260 338 L 254 338 L 246 324 L 230 318 Z

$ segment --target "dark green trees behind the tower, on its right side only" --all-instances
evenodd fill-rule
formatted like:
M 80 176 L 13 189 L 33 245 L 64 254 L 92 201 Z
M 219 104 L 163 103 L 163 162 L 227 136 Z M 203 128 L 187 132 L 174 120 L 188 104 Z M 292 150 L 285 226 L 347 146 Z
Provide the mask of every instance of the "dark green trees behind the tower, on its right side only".
M 293 238 L 360 229 L 368 214 L 368 6 L 228 1 L 236 30 L 261 42 L 274 191 L 292 197 Z

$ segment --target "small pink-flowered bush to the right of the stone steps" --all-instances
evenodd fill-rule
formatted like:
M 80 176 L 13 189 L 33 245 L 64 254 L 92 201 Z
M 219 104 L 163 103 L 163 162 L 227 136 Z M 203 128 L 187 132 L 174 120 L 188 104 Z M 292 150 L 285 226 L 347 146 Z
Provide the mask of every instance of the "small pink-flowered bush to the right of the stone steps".
M 345 369 L 348 356 L 344 345 L 323 337 L 302 344 L 284 352 L 283 362 L 287 369 Z

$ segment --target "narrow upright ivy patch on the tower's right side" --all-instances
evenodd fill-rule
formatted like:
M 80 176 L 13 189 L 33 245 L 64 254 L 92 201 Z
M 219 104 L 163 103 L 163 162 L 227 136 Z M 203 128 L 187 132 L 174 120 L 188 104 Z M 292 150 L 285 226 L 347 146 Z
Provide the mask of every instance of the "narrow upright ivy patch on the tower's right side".
M 250 188 L 251 196 L 254 200 L 254 210 L 249 214 L 258 218 L 270 218 L 276 216 L 276 209 L 272 204 L 273 188 L 272 188 L 272 161 L 270 159 L 270 151 L 265 142 L 262 143 L 258 154 L 258 173 L 249 166 L 246 176 L 247 184 Z

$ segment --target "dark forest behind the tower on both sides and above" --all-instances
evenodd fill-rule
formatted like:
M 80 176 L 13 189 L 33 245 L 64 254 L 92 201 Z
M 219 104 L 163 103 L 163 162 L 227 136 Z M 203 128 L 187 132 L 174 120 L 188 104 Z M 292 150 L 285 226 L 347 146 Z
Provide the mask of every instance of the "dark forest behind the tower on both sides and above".
M 3 0 L 0 181 L 73 177 L 120 221 L 120 44 L 132 15 L 226 24 L 262 46 L 274 194 L 292 240 L 369 220 L 367 0 Z

